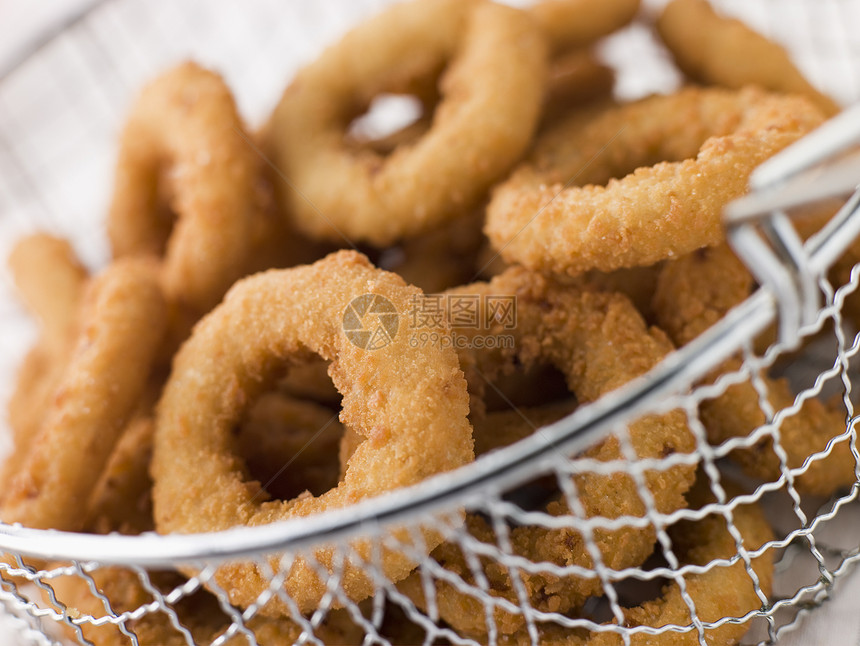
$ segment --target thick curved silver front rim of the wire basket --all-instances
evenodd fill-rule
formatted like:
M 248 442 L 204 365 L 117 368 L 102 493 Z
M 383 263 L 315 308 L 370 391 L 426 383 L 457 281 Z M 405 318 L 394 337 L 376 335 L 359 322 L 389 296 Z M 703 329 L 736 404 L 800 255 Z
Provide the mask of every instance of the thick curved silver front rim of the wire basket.
M 454 471 L 350 507 L 257 527 L 199 534 L 98 535 L 0 522 L 0 551 L 40 559 L 153 567 L 296 552 L 358 536 L 378 536 L 386 528 L 402 526 L 416 516 L 443 514 L 478 504 L 488 492 L 502 492 L 534 477 L 536 468 L 548 468 L 559 452 L 580 452 L 643 414 L 663 412 L 662 402 L 688 389 L 776 317 L 775 296 L 760 288 L 719 323 L 664 357 L 649 372 L 543 427 L 540 433 Z

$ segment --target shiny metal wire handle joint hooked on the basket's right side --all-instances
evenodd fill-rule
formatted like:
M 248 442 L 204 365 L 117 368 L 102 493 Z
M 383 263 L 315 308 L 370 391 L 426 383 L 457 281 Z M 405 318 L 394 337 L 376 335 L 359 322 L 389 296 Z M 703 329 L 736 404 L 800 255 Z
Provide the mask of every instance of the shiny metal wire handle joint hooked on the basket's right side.
M 820 310 L 819 278 L 860 233 L 860 104 L 855 105 L 759 166 L 751 192 L 726 207 L 729 244 L 779 312 L 779 341 L 800 343 L 800 330 Z M 804 242 L 793 226 L 792 209 L 827 198 L 854 196 L 816 236 Z M 813 249 L 827 246 L 827 263 Z M 821 254 L 818 254 L 821 257 Z

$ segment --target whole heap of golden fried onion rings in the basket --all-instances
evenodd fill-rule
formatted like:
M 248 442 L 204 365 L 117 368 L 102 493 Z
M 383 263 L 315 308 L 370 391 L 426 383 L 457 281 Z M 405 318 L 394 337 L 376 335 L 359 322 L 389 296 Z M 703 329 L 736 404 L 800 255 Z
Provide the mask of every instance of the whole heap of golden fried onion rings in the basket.
M 691 84 L 619 103 L 595 47 L 638 10 L 398 4 L 300 70 L 259 132 L 195 63 L 148 84 L 119 142 L 111 262 L 90 276 L 45 233 L 10 258 L 40 337 L 9 402 L 3 522 L 189 534 L 342 509 L 540 432 L 720 320 L 755 288 L 725 243 L 723 208 L 838 108 L 779 46 L 704 0 L 674 0 L 656 24 Z M 727 63 L 727 47 L 760 65 Z M 417 98 L 423 115 L 384 137 L 357 134 L 382 93 Z M 846 275 L 845 263 L 834 271 Z M 775 408 L 793 402 L 787 382 L 764 379 Z M 765 424 L 759 397 L 741 383 L 706 400 L 707 440 Z M 838 407 L 807 400 L 782 427 L 788 468 L 844 430 Z M 786 465 L 772 444 L 732 458 L 775 480 Z M 532 483 L 515 504 L 533 521 L 464 512 L 480 557 L 438 528 L 395 528 L 388 542 L 355 539 L 360 558 L 346 564 L 330 547 L 286 563 L 274 589 L 281 555 L 261 555 L 183 594 L 199 567 L 149 584 L 121 567 L 65 572 L 42 603 L 72 617 L 131 613 L 82 622 L 96 644 L 131 643 L 128 631 L 142 644 L 245 643 L 230 629 L 242 611 L 261 644 L 308 631 L 359 644 L 367 624 L 331 599 L 325 572 L 337 570 L 342 594 L 392 643 L 442 643 L 426 638 L 421 612 L 478 643 L 621 643 L 618 623 L 631 643 L 699 643 L 696 622 L 759 610 L 773 574 L 773 550 L 738 556 L 773 538 L 756 504 L 734 507 L 731 524 L 722 513 L 660 520 L 723 502 L 699 458 L 685 412 L 648 415 L 571 457 L 592 468 Z M 854 478 L 843 443 L 795 484 L 826 495 Z M 589 618 L 595 598 L 616 598 L 607 581 L 620 585 L 667 542 L 672 569 L 708 567 L 668 577 L 604 630 L 552 620 Z M 498 548 L 507 559 L 491 556 Z M 374 614 L 378 583 L 361 565 L 371 559 L 413 616 L 390 599 Z M 152 602 L 171 592 L 168 615 Z M 686 629 L 649 634 L 667 625 Z M 747 628 L 701 630 L 729 644 Z

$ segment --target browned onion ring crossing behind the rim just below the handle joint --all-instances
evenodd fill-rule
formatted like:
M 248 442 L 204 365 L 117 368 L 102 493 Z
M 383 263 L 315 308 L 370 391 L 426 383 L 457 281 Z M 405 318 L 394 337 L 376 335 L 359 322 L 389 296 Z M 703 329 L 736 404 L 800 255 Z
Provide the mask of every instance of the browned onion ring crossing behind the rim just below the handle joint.
M 688 343 L 720 320 L 732 307 L 752 292 L 753 278 L 731 249 L 723 245 L 702 249 L 667 263 L 660 274 L 654 296 L 654 312 L 660 325 L 679 345 Z M 710 378 L 742 369 L 740 358 L 724 363 Z M 792 406 L 795 395 L 788 381 L 761 375 L 767 397 L 774 410 Z M 750 382 L 730 386 L 725 393 L 702 402 L 700 414 L 712 444 L 743 437 L 767 424 L 761 410 L 760 395 Z M 841 404 L 841 401 L 840 401 Z M 846 433 L 844 408 L 809 398 L 800 410 L 785 417 L 779 438 L 786 452 L 788 468 L 803 465 L 810 456 L 827 457 L 810 462 L 808 469 L 795 477 L 795 487 L 803 493 L 829 496 L 856 480 L 855 460 L 848 437 L 829 452 L 828 443 Z M 776 480 L 782 465 L 772 449 L 772 440 L 751 449 L 732 452 L 732 458 L 751 476 Z

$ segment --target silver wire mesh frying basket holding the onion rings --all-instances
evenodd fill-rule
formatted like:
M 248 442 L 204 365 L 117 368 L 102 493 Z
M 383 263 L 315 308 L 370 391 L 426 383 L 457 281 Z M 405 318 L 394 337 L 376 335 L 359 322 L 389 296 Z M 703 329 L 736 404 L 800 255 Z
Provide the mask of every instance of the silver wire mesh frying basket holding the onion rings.
M 22 234 L 47 229 L 72 240 L 92 267 L 105 262 L 101 224 L 119 127 L 137 88 L 168 64 L 193 58 L 223 72 L 259 123 L 292 71 L 385 4 L 88 7 L 0 74 L 0 255 Z M 850 30 L 860 2 L 718 5 L 787 44 L 824 91 L 843 103 L 860 98 L 860 46 Z M 623 98 L 680 81 L 641 23 L 602 48 Z M 858 198 L 805 242 L 784 215 L 813 197 L 853 192 L 850 176 L 801 171 L 853 143 L 858 121 L 847 114 L 829 139 L 825 132 L 759 173 L 727 223 L 761 288 L 644 377 L 545 427 L 526 419 L 539 430 L 458 471 L 301 521 L 186 536 L 2 525 L 8 625 L 20 628 L 22 643 L 778 641 L 860 559 L 850 527 L 860 484 L 852 399 L 860 319 L 850 302 L 860 273 L 844 259 L 857 236 Z M 838 262 L 841 273 L 828 274 Z M 5 400 L 33 330 L 9 280 L 0 287 Z M 776 340 L 762 343 L 773 326 Z M 759 423 L 709 443 L 709 404 L 738 392 Z M 807 424 L 812 401 L 826 401 L 839 425 L 797 462 L 786 429 Z M 695 450 L 641 459 L 631 440 L 637 425 L 672 415 L 692 431 Z M 617 459 L 591 456 L 608 436 Z M 738 452 L 769 470 L 744 472 L 743 459 L 729 457 Z M 694 467 L 697 504 L 667 511 L 660 483 Z M 838 482 L 821 495 L 826 487 L 810 484 L 813 476 Z M 621 499 L 625 487 L 632 498 Z M 595 503 L 601 495 L 617 513 L 594 512 L 607 509 Z M 751 511 L 756 503 L 766 524 Z M 431 551 L 428 536 L 441 537 L 440 546 Z M 653 555 L 633 565 L 617 558 L 643 549 Z M 418 567 L 394 583 L 390 554 Z M 313 585 L 291 583 L 297 568 Z M 251 603 L 234 605 L 237 576 L 257 581 Z

